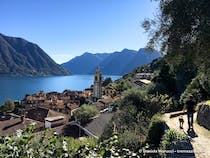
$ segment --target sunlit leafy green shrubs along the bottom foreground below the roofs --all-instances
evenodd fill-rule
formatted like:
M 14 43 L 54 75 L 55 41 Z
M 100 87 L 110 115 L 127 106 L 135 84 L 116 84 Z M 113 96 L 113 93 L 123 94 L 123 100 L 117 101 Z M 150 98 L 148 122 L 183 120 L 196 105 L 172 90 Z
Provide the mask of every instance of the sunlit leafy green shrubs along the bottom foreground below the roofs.
M 115 133 L 104 141 L 93 138 L 73 139 L 59 137 L 50 129 L 38 136 L 32 133 L 35 125 L 26 130 L 18 130 L 14 136 L 0 137 L 0 157 L 21 158 L 86 158 L 86 157 L 131 157 L 137 153 L 118 147 Z

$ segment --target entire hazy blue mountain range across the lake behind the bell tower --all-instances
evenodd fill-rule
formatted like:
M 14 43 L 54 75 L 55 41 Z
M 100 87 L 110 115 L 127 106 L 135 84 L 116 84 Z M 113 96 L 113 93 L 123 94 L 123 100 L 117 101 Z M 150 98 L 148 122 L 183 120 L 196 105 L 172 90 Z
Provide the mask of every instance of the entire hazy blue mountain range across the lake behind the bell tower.
M 93 74 L 97 66 L 106 75 L 124 75 L 135 67 L 150 63 L 160 57 L 158 52 L 148 52 L 145 49 L 138 51 L 124 49 L 113 53 L 84 53 L 71 59 L 62 66 L 74 74 Z

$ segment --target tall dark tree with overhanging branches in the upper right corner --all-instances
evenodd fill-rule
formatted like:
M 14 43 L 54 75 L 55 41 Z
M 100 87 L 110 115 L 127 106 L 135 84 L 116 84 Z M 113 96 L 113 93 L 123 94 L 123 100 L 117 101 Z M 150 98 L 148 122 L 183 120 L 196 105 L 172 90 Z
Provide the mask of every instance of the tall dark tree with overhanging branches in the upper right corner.
M 148 48 L 160 49 L 173 68 L 182 92 L 198 71 L 210 74 L 210 1 L 155 0 L 159 11 L 142 24 Z

